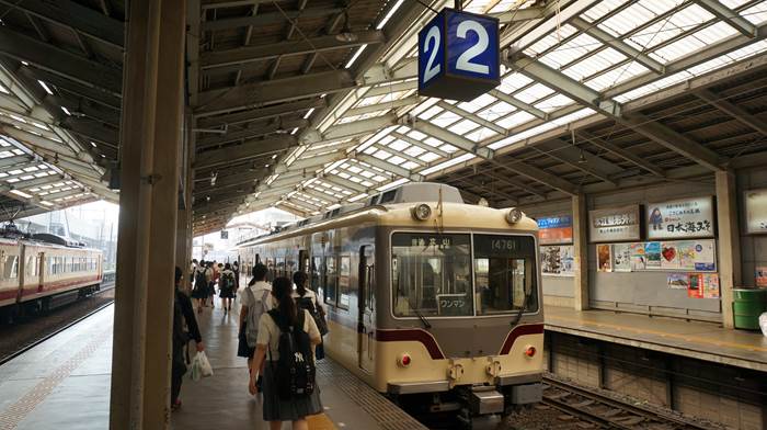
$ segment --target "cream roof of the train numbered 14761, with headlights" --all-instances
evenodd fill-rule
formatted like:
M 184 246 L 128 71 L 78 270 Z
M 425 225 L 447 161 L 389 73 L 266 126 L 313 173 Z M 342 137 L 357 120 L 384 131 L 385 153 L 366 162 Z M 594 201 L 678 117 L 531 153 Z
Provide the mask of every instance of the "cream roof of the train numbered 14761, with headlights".
M 442 197 L 442 199 L 440 199 Z M 415 205 L 427 204 L 432 215 L 427 220 L 413 219 Z M 440 183 L 410 183 L 381 192 L 368 199 L 366 204 L 355 204 L 328 211 L 322 215 L 301 219 L 267 235 L 242 240 L 239 247 L 271 242 L 284 238 L 307 235 L 347 225 L 373 222 L 390 226 L 422 226 L 424 228 L 461 228 L 508 230 L 508 233 L 537 231 L 537 223 L 522 214 L 510 224 L 506 216 L 512 208 L 492 208 L 467 204 L 460 192 Z

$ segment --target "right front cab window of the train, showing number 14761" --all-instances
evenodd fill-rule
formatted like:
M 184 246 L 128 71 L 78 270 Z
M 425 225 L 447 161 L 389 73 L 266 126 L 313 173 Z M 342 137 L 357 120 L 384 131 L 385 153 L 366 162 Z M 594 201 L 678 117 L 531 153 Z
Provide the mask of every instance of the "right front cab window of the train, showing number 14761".
M 477 315 L 535 312 L 536 261 L 530 236 L 474 235 Z

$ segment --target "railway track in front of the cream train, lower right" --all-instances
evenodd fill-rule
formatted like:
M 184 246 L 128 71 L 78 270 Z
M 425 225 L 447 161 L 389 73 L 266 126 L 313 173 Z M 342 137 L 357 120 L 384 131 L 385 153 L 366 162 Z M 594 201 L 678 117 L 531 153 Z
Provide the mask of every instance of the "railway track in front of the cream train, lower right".
M 542 404 L 594 428 L 625 430 L 711 430 L 720 426 L 700 422 L 641 404 L 629 404 L 606 394 L 554 378 L 543 377 Z

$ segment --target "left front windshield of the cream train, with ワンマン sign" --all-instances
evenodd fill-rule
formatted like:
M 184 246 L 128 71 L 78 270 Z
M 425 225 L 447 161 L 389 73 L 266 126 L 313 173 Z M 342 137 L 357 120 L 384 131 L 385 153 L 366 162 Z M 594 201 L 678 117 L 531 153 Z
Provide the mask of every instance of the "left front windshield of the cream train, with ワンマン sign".
M 471 237 L 394 234 L 391 281 L 394 316 L 473 316 Z

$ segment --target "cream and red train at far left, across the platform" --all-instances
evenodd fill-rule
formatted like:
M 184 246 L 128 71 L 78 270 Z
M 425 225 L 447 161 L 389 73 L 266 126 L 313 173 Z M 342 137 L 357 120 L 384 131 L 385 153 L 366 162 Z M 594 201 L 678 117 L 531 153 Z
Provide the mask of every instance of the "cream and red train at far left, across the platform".
M 0 315 L 47 312 L 100 290 L 103 253 L 51 234 L 0 228 Z

